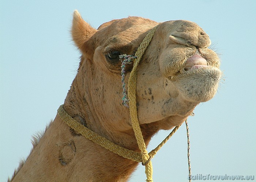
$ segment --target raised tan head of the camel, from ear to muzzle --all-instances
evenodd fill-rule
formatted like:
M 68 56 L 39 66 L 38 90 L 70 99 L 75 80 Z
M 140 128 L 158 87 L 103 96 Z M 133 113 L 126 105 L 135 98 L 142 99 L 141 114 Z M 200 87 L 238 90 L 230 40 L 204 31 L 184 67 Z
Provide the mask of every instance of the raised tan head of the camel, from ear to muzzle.
M 82 58 L 72 86 L 76 99 L 91 103 L 95 120 L 104 121 L 100 127 L 131 128 L 129 109 L 122 105 L 119 55 L 134 55 L 155 26 L 158 28 L 137 69 L 140 124 L 156 123 L 160 129 L 180 125 L 196 105 L 217 92 L 220 61 L 208 48 L 209 36 L 197 24 L 128 17 L 104 23 L 96 30 L 75 11 L 71 32 Z M 132 66 L 126 68 L 127 84 Z

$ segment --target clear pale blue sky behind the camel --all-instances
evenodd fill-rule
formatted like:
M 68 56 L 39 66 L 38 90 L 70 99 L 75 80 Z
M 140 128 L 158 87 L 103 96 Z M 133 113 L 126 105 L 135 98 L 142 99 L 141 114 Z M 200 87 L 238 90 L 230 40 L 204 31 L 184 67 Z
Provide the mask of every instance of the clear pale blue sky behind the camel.
M 80 55 L 69 35 L 75 9 L 95 28 L 127 16 L 199 24 L 220 55 L 223 80 L 188 119 L 192 174 L 256 177 L 256 1 L 176 2 L 0 1 L 0 181 L 27 157 L 31 135 L 54 119 L 76 75 Z M 158 133 L 149 150 L 166 135 Z M 153 158 L 155 181 L 187 181 L 186 137 L 182 125 Z M 140 165 L 130 182 L 145 179 Z

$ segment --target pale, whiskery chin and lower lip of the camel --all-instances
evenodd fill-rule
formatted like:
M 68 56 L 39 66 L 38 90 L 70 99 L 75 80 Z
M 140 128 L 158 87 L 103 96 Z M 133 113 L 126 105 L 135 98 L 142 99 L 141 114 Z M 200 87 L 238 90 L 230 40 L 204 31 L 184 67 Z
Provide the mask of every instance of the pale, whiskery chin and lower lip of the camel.
M 174 78 L 184 100 L 206 102 L 214 97 L 221 78 L 221 70 L 213 66 L 204 66 L 180 73 Z

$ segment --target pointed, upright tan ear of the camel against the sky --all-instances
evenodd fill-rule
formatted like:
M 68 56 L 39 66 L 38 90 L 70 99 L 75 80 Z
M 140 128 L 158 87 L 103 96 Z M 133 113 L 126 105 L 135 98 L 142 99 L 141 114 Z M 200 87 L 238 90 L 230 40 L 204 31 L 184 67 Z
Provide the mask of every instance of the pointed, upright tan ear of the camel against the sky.
M 84 52 L 84 43 L 91 38 L 97 32 L 96 29 L 86 23 L 80 16 L 77 10 L 74 11 L 73 22 L 72 22 L 72 38 L 76 46 Z

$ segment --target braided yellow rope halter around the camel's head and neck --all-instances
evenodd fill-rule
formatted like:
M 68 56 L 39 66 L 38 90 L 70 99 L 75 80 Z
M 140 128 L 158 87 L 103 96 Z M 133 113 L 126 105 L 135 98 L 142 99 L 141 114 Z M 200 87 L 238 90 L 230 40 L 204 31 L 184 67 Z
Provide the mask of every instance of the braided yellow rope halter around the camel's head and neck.
M 137 113 L 137 107 L 136 107 L 136 83 L 137 83 L 137 67 L 139 64 L 140 59 L 142 58 L 142 55 L 144 54 L 145 50 L 147 49 L 147 46 L 149 45 L 151 39 L 153 38 L 153 35 L 155 33 L 155 30 L 157 29 L 157 26 L 152 28 L 150 32 L 146 35 L 146 37 L 143 39 L 142 43 L 138 47 L 138 50 L 135 53 L 135 56 L 137 57 L 133 63 L 133 69 L 131 71 L 129 82 L 128 82 L 128 98 L 129 98 L 129 111 L 132 121 L 132 127 L 135 133 L 135 137 L 140 149 L 139 152 L 135 152 L 132 150 L 128 150 L 127 148 L 118 146 L 117 144 L 110 142 L 108 139 L 98 135 L 94 131 L 91 131 L 89 128 L 85 127 L 84 125 L 80 124 L 78 121 L 73 119 L 71 116 L 68 115 L 68 113 L 65 111 L 63 105 L 61 105 L 58 109 L 58 114 L 61 117 L 61 119 L 72 129 L 74 129 L 76 132 L 80 133 L 82 136 L 86 137 L 87 139 L 93 141 L 94 143 L 99 144 L 100 146 L 114 152 L 115 154 L 118 154 L 120 156 L 123 156 L 124 158 L 136 161 L 136 162 L 142 162 L 142 165 L 145 166 L 145 173 L 147 176 L 147 182 L 153 182 L 152 175 L 153 175 L 153 167 L 151 163 L 151 159 L 153 156 L 157 153 L 157 151 L 171 138 L 171 136 L 177 131 L 177 129 L 180 127 L 176 126 L 172 132 L 151 152 L 147 152 L 146 150 L 146 144 L 144 142 L 142 132 L 140 130 L 139 120 L 138 120 L 138 113 Z M 189 163 L 190 165 L 190 163 Z

